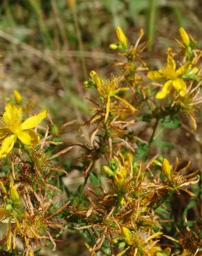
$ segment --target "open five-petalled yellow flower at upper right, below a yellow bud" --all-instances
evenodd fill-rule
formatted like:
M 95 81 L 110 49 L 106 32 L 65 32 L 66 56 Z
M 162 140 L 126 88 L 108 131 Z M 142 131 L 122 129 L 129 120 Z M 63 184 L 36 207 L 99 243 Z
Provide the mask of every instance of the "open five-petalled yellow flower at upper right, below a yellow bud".
M 156 81 L 163 82 L 163 89 L 156 94 L 156 98 L 163 99 L 174 88 L 181 97 L 184 97 L 187 91 L 187 84 L 183 80 L 183 75 L 190 69 L 190 63 L 186 63 L 176 70 L 176 62 L 172 56 L 172 51 L 167 54 L 167 64 L 158 71 L 149 71 L 147 77 Z

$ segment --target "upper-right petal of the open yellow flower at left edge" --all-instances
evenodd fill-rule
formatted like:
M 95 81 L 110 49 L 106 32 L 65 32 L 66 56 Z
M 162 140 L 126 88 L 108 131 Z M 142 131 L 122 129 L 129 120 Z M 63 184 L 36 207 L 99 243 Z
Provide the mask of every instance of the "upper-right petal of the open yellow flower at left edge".
M 44 110 L 38 113 L 36 116 L 31 116 L 21 124 L 21 129 L 22 130 L 33 129 L 34 127 L 39 125 L 39 123 L 42 122 L 44 118 L 46 118 L 47 113 L 48 111 Z

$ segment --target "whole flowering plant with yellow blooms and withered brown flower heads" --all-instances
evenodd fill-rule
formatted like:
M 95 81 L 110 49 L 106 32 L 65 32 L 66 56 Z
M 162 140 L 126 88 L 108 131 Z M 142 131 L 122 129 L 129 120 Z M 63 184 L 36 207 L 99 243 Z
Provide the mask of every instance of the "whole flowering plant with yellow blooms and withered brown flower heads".
M 89 137 L 80 129 L 84 143 L 61 148 L 66 124 L 57 127 L 49 116 L 41 125 L 47 110 L 30 116 L 19 91 L 7 99 L 0 128 L 0 223 L 6 230 L 0 254 L 39 256 L 49 244 L 55 250 L 65 229 L 82 234 L 93 256 L 200 255 L 199 171 L 162 156 L 162 147 L 168 155 L 173 145 L 158 140 L 163 129 L 179 128 L 181 118 L 190 118 L 194 129 L 188 129 L 196 130 L 201 51 L 183 28 L 179 33 L 180 51 L 168 48 L 165 66 L 150 70 L 142 55 L 144 31 L 129 44 L 116 29 L 118 42 L 110 48 L 118 53 L 120 73 L 104 79 L 91 71 L 84 82 L 98 95 L 90 99 L 91 118 L 78 127 L 88 125 Z M 81 150 L 71 161 L 61 157 L 73 147 Z M 83 183 L 71 191 L 64 181 L 75 170 Z M 190 202 L 178 205 L 178 220 L 173 201 L 184 194 Z M 195 221 L 188 219 L 191 208 Z

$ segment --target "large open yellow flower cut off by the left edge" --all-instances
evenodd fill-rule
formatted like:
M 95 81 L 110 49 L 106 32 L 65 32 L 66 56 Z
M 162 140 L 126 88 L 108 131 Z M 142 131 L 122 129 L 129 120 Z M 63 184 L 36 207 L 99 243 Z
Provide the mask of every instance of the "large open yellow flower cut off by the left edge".
M 16 139 L 21 140 L 26 145 L 35 145 L 39 142 L 39 134 L 33 128 L 39 125 L 46 118 L 47 110 L 41 111 L 36 116 L 32 116 L 22 122 L 23 115 L 21 107 L 14 104 L 7 104 L 3 113 L 3 125 L 0 128 L 0 158 L 5 157 L 15 144 Z

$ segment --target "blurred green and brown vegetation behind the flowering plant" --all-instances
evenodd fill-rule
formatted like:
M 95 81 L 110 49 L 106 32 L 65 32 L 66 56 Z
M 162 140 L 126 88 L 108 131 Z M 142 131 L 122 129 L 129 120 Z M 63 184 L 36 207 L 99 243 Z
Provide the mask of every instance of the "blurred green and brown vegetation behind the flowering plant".
M 116 71 L 116 55 L 109 49 L 116 42 L 116 26 L 131 41 L 144 28 L 151 42 L 143 57 L 152 67 L 165 62 L 168 46 L 176 47 L 179 26 L 198 41 L 199 48 L 202 44 L 201 0 L 1 0 L 0 15 L 1 110 L 6 96 L 18 89 L 30 104 L 48 108 L 59 125 L 89 118 L 91 104 L 86 98 L 92 92 L 84 89 L 83 82 L 92 69 L 106 77 Z M 161 135 L 169 137 L 174 147 L 160 153 L 169 158 L 178 155 L 185 162 L 188 157 L 194 168 L 200 168 L 201 113 L 197 134 L 185 120 L 183 127 Z M 75 127 L 64 129 L 62 137 L 68 144 L 78 139 Z M 89 255 L 82 238 L 71 233 L 63 237 L 66 244 L 58 242 L 54 255 Z

